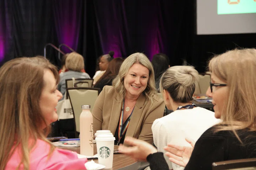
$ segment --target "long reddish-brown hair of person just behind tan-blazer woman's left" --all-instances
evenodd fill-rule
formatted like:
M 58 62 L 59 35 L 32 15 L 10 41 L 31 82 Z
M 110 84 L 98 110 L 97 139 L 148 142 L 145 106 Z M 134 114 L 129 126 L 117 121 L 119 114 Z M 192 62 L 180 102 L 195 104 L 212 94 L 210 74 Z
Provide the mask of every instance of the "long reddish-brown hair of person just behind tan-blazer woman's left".
M 95 85 L 100 83 L 102 80 L 110 81 L 110 80 L 114 79 L 118 75 L 119 69 L 120 69 L 123 61 L 124 61 L 124 59 L 120 58 L 120 57 L 114 58 L 113 60 L 111 60 L 111 62 L 108 64 L 108 68 L 107 68 L 106 72 L 101 76 L 101 78 L 97 81 L 97 83 Z

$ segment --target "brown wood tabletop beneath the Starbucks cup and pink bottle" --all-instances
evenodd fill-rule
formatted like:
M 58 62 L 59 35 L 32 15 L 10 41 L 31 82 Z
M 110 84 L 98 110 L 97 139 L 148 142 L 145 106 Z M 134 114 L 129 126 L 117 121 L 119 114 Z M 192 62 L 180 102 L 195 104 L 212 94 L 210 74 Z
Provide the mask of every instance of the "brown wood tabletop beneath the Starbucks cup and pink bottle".
M 80 154 L 80 147 L 63 147 L 58 146 L 61 149 L 67 149 Z M 114 146 L 114 149 L 118 149 L 118 146 Z M 94 154 L 97 154 L 97 147 L 94 144 Z M 91 161 L 91 160 L 89 160 Z M 94 162 L 98 163 L 98 159 L 94 159 Z M 137 170 L 139 169 L 141 162 L 137 162 L 132 158 L 124 154 L 114 154 L 113 156 L 113 167 L 108 170 Z M 107 168 L 104 168 L 107 169 Z

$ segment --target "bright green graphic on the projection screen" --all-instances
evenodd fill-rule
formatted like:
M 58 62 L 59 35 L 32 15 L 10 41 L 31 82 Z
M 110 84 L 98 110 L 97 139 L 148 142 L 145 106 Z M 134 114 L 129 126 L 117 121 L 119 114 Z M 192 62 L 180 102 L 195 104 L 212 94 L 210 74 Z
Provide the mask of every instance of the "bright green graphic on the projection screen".
M 218 0 L 217 13 L 256 13 L 256 0 Z

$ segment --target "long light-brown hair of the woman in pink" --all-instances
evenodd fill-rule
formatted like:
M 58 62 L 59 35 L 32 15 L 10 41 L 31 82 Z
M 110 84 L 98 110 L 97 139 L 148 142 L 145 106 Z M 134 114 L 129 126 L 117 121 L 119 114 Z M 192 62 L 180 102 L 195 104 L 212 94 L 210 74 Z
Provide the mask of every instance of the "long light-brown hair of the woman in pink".
M 50 126 L 39 107 L 46 69 L 52 71 L 58 83 L 56 67 L 43 57 L 15 58 L 0 68 L 0 170 L 5 169 L 17 146 L 21 147 L 17 169 L 21 164 L 29 169 L 30 151 L 37 139 L 49 143 L 49 154 L 54 149 L 46 139 Z M 47 128 L 42 130 L 42 126 Z

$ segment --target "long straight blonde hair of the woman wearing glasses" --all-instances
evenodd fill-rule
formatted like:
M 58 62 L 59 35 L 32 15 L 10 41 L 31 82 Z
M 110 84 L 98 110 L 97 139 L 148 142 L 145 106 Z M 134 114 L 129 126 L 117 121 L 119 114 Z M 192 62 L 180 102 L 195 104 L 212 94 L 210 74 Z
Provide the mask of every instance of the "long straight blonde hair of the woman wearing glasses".
M 215 131 L 256 130 L 256 50 L 235 49 L 215 56 L 209 62 L 209 70 L 226 82 L 229 92 Z M 241 142 L 242 143 L 242 142 Z

